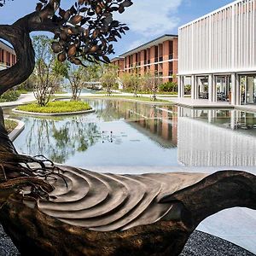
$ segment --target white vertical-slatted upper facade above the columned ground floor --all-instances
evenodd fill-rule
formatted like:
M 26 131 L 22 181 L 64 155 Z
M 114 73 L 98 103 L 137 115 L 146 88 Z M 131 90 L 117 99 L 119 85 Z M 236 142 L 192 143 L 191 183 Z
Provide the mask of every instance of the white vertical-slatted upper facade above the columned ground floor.
M 256 0 L 230 3 L 179 28 L 179 74 L 256 71 Z

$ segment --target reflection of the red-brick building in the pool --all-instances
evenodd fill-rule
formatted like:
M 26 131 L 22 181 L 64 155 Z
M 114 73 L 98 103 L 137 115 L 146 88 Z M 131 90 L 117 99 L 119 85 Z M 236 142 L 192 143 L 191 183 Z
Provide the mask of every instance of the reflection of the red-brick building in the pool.
M 141 103 L 108 100 L 94 102 L 97 114 L 105 121 L 125 119 L 125 122 L 162 147 L 177 147 L 177 111 L 174 109 L 176 107 L 169 109 Z

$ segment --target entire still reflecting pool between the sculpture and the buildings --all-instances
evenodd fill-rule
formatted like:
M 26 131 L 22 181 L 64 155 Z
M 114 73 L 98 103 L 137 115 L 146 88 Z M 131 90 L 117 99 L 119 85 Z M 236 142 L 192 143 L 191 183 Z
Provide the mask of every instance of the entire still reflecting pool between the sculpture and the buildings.
M 95 113 L 15 115 L 24 154 L 72 166 L 256 166 L 256 114 L 86 100 Z

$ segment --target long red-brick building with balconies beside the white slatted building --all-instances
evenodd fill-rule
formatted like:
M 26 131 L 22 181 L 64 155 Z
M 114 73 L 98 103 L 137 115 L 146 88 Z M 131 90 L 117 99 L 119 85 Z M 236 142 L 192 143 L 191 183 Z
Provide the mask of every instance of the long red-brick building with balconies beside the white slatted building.
M 177 36 L 164 35 L 114 58 L 112 63 L 119 67 L 119 73 L 140 75 L 154 73 L 163 82 L 176 82 Z

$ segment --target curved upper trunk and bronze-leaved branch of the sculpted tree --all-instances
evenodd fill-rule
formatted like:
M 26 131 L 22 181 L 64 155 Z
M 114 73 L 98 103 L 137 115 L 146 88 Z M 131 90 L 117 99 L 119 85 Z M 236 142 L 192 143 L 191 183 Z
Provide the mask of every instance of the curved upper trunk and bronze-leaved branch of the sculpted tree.
M 0 3 L 3 6 L 6 1 Z M 131 0 L 78 0 L 70 9 L 62 9 L 61 0 L 39 0 L 31 14 L 12 25 L 0 25 L 0 38 L 12 44 L 17 55 L 15 66 L 0 72 L 0 95 L 32 73 L 35 55 L 30 32 L 54 33 L 51 47 L 59 61 L 108 63 L 108 55 L 114 53 L 112 43 L 129 30 L 113 19 L 113 13 L 121 14 L 131 4 Z

